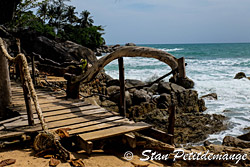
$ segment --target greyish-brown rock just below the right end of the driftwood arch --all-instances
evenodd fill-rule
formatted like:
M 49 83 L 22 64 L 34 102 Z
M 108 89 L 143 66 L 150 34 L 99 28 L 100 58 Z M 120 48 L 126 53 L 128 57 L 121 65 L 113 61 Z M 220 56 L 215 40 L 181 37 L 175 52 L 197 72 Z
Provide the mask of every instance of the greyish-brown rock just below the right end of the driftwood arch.
M 170 94 L 171 92 L 181 93 L 185 90 L 186 89 L 183 88 L 182 86 L 179 86 L 179 85 L 176 85 L 176 84 L 170 83 L 170 82 L 160 82 L 158 84 L 158 92 L 159 93 L 168 93 L 168 94 Z

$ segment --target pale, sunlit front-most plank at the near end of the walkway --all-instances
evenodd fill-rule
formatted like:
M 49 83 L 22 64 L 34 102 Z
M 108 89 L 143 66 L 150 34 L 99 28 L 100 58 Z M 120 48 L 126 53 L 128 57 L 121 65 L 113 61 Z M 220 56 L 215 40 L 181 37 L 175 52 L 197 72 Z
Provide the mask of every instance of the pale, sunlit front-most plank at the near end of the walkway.
M 144 130 L 147 128 L 151 128 L 151 125 L 144 123 L 144 122 L 137 122 L 134 124 L 122 125 L 122 126 L 109 128 L 109 129 L 83 133 L 83 134 L 79 134 L 79 136 L 85 141 L 93 141 L 93 140 L 104 139 L 107 137 L 118 136 L 121 134 L 133 132 L 133 131 Z

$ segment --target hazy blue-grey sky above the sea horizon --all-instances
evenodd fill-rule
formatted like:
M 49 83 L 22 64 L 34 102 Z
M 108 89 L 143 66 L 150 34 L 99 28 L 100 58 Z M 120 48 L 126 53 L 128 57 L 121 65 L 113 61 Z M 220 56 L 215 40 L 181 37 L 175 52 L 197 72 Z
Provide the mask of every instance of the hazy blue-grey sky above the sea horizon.
M 250 0 L 71 0 L 107 44 L 250 42 Z

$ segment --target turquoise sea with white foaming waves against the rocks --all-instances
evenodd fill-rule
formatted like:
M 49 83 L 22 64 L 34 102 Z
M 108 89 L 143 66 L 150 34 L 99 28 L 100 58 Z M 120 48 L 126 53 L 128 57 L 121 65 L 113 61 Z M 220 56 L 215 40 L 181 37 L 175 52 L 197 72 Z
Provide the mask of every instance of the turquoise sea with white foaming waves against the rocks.
M 225 115 L 229 118 L 230 128 L 210 135 L 210 141 L 217 143 L 225 135 L 237 136 L 247 132 L 244 128 L 250 127 L 250 80 L 233 78 L 240 71 L 250 77 L 250 43 L 139 46 L 157 48 L 177 58 L 185 57 L 187 76 L 195 82 L 194 89 L 199 96 L 217 93 L 218 100 L 206 100 L 208 109 L 205 113 Z M 149 81 L 170 71 L 166 64 L 156 59 L 125 58 L 124 64 L 127 79 Z M 118 78 L 117 61 L 110 63 L 105 70 L 113 78 Z

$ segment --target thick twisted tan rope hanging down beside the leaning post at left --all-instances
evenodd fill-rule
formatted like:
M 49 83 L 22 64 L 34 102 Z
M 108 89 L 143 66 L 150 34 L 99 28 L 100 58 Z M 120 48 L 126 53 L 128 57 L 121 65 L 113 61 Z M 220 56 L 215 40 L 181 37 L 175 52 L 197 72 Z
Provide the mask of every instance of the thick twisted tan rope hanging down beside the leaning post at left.
M 24 75 L 23 79 L 24 79 L 24 82 L 26 82 L 28 84 L 28 89 L 29 89 L 29 91 L 31 93 L 31 98 L 32 98 L 32 100 L 34 102 L 35 110 L 36 110 L 36 113 L 37 113 L 38 118 L 40 120 L 42 129 L 44 131 L 48 131 L 48 127 L 47 127 L 47 124 L 45 122 L 41 107 L 40 107 L 39 102 L 38 102 L 38 97 L 37 97 L 37 94 L 36 94 L 36 91 L 35 91 L 31 76 L 30 76 L 28 62 L 27 62 L 27 59 L 26 59 L 25 55 L 22 54 L 22 53 L 19 53 L 15 58 L 10 56 L 7 49 L 5 48 L 4 41 L 3 41 L 2 38 L 0 38 L 0 47 L 1 47 L 1 50 L 2 50 L 2 52 L 4 54 L 4 56 L 11 63 L 21 65 L 21 70 L 23 71 L 23 75 Z M 20 48 L 20 45 L 19 45 L 19 48 Z M 19 51 L 20 51 L 20 49 L 19 49 Z

